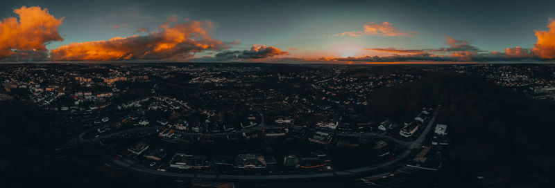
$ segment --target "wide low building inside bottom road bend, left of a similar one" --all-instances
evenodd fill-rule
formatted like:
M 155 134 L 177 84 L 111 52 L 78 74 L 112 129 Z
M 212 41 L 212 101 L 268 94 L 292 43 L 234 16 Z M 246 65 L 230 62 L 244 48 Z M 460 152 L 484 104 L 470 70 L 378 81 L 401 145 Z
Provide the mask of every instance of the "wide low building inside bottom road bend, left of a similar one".
M 176 153 L 169 162 L 169 167 L 178 169 L 205 169 L 210 167 L 205 156 Z

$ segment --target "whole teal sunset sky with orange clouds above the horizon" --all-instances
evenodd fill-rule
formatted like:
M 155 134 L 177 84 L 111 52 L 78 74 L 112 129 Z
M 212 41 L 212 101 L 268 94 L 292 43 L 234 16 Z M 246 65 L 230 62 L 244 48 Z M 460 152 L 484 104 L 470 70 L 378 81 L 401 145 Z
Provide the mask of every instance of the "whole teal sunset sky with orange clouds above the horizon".
M 0 61 L 549 62 L 555 1 L 1 1 Z

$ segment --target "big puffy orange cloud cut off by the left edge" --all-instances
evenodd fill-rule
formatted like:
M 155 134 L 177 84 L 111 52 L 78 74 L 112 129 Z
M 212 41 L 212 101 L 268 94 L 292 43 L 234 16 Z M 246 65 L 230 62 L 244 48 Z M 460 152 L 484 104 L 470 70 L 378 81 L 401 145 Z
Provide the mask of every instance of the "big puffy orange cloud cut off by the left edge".
M 50 41 L 63 41 L 58 33 L 58 26 L 63 17 L 56 19 L 48 9 L 38 6 L 15 9 L 18 15 L 0 21 L 0 59 L 10 56 L 24 55 L 33 57 L 33 53 L 46 54 L 46 46 Z

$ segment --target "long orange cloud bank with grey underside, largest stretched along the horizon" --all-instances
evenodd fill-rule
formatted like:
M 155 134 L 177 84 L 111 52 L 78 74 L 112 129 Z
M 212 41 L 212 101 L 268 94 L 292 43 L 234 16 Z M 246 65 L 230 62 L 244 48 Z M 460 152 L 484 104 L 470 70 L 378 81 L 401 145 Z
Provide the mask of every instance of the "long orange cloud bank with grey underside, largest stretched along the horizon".
M 210 21 L 176 23 L 169 17 L 157 32 L 146 36 L 114 37 L 107 41 L 87 41 L 51 50 L 53 60 L 187 59 L 191 53 L 225 48 L 208 33 Z

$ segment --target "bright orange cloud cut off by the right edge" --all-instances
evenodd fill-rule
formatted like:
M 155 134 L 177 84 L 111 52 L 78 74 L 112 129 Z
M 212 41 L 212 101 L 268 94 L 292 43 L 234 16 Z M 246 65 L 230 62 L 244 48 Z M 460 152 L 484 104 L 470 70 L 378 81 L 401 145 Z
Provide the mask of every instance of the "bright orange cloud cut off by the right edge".
M 543 59 L 555 59 L 555 19 L 549 19 L 549 30 L 536 30 L 538 41 L 532 48 L 533 55 Z

